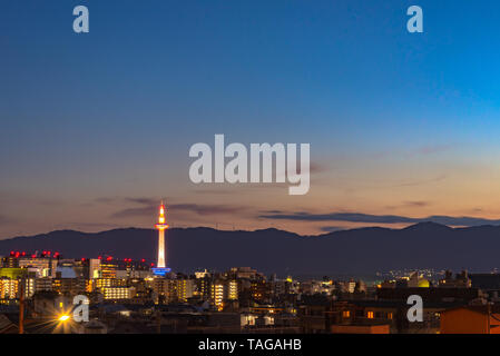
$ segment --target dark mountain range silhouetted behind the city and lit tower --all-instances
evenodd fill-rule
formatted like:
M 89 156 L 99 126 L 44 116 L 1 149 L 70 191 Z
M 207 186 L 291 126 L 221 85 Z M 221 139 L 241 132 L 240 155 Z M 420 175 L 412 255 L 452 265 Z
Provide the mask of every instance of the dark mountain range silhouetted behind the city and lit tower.
M 168 265 L 179 271 L 249 266 L 267 274 L 333 275 L 424 267 L 489 271 L 500 266 L 499 226 L 450 228 L 421 222 L 404 229 L 374 227 L 321 236 L 277 229 L 173 228 L 166 236 Z M 155 261 L 156 244 L 154 229 L 59 230 L 0 240 L 0 255 L 58 250 L 68 258 L 108 254 Z

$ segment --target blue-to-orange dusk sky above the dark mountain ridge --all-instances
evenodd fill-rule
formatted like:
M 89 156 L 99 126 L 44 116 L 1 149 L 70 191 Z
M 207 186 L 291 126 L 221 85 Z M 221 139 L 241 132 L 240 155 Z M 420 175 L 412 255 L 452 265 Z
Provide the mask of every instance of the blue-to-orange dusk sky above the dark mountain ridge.
M 499 219 L 499 16 L 486 0 L 1 1 L 0 238 L 153 227 L 161 198 L 174 226 L 225 229 Z M 189 147 L 215 134 L 310 142 L 310 194 L 192 184 Z

